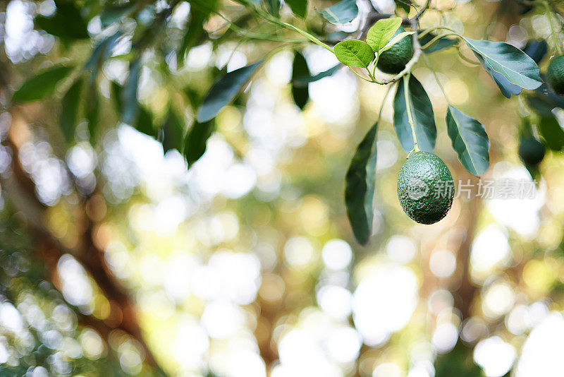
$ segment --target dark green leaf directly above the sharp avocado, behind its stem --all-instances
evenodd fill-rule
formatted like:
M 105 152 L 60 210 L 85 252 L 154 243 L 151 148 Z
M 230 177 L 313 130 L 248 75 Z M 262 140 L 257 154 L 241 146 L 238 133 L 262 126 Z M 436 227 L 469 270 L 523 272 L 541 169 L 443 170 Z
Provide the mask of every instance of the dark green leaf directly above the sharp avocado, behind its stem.
M 433 106 L 427 92 L 419 80 L 410 77 L 409 83 L 410 109 L 415 123 L 415 136 L 419 148 L 426 152 L 433 152 L 436 140 L 435 117 Z M 413 149 L 413 136 L 411 126 L 407 120 L 407 107 L 405 101 L 405 85 L 403 80 L 398 81 L 396 97 L 393 99 L 393 127 L 400 139 L 401 146 L 406 152 Z

